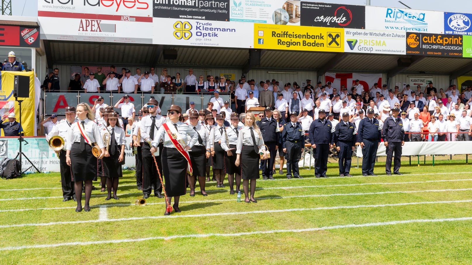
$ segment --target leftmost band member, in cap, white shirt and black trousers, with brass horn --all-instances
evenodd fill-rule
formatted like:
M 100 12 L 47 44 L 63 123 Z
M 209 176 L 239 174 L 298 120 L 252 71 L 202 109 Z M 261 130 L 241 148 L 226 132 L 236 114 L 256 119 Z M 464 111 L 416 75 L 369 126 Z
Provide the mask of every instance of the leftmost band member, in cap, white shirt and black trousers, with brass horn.
M 59 135 L 64 139 L 64 147 L 59 150 L 58 157 L 60 160 L 60 180 L 62 186 L 62 201 L 68 201 L 70 199 L 76 199 L 76 193 L 74 191 L 74 182 L 70 174 L 70 166 L 66 163 L 66 148 L 67 148 L 67 134 L 70 126 L 75 123 L 76 120 L 76 107 L 66 107 L 66 118 L 61 120 L 56 126 L 54 126 L 46 137 L 49 141 L 52 136 Z

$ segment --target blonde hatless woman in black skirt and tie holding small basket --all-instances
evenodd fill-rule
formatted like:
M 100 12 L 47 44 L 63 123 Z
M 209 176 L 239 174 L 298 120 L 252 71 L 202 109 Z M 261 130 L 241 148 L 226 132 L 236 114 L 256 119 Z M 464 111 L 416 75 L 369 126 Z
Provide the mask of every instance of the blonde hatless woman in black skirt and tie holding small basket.
M 261 130 L 255 123 L 256 117 L 252 112 L 246 114 L 244 128 L 239 131 L 236 144 L 236 162 L 235 165 L 241 165 L 241 178 L 243 179 L 244 202 L 256 203 L 254 192 L 256 190 L 256 179 L 260 178 L 259 159 L 267 159 L 264 146 L 264 140 L 261 136 Z M 244 163 L 241 163 L 244 160 Z M 251 197 L 248 196 L 249 180 L 251 180 Z

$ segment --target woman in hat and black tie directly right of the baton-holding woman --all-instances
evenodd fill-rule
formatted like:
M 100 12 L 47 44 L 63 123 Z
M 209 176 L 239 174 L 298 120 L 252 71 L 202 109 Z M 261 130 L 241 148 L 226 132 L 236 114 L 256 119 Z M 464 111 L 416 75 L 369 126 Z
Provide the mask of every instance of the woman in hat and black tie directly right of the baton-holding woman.
M 198 178 L 200 184 L 200 193 L 203 196 L 208 196 L 205 192 L 205 173 L 206 173 L 206 159 L 210 157 L 210 148 L 208 146 L 209 134 L 206 132 L 204 125 L 199 123 L 199 115 L 196 110 L 189 112 L 190 127 L 198 133 L 198 141 L 192 147 L 190 153 L 190 161 L 193 166 L 193 174 L 188 176 L 188 183 L 190 184 L 190 196 L 195 196 L 195 177 Z

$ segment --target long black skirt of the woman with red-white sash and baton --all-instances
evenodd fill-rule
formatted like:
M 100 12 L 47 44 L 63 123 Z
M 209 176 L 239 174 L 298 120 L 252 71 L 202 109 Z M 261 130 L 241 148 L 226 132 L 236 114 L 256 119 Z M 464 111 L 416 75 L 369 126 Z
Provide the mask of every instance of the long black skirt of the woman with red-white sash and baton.
M 167 197 L 185 195 L 187 191 L 187 160 L 185 157 L 175 148 L 164 147 L 161 161 Z

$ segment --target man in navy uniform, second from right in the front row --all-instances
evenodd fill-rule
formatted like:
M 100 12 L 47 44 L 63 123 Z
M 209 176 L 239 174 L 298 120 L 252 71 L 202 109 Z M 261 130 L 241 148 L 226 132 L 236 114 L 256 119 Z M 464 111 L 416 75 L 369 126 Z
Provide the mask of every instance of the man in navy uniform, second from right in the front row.
M 377 176 L 374 174 L 375 157 L 382 139 L 382 123 L 374 118 L 374 110 L 367 109 L 367 118 L 359 122 L 357 141 L 362 148 L 362 176 Z

